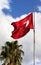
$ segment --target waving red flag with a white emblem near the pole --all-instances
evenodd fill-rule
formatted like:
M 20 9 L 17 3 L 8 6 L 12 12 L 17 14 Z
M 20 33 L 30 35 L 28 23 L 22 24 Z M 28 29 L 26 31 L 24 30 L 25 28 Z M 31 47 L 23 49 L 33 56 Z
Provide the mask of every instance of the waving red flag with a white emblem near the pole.
M 29 23 L 28 23 L 29 22 Z M 28 25 L 27 25 L 28 23 Z M 14 30 L 12 31 L 12 38 L 18 39 L 26 35 L 30 29 L 33 29 L 33 14 L 29 14 L 24 19 L 11 23 Z

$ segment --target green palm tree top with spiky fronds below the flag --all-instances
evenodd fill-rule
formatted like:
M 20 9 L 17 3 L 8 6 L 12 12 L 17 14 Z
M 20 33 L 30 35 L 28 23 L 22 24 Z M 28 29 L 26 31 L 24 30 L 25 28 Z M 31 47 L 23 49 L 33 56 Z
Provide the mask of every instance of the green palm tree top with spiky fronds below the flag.
M 21 47 L 18 41 L 6 42 L 0 54 L 0 60 L 4 61 L 3 65 L 21 65 L 22 55 L 24 55 Z

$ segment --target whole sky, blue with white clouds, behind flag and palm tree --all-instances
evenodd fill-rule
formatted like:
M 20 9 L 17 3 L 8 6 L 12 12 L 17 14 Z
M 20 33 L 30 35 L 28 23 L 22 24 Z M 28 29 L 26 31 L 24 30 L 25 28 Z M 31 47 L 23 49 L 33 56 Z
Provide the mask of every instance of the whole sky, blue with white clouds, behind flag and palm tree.
M 35 11 L 36 23 L 36 60 L 38 58 L 41 64 L 41 0 L 0 0 L 0 51 L 6 41 L 14 40 L 11 38 L 11 23 L 24 18 L 32 11 Z M 25 52 L 22 65 L 27 65 L 33 60 L 33 30 L 18 41 Z

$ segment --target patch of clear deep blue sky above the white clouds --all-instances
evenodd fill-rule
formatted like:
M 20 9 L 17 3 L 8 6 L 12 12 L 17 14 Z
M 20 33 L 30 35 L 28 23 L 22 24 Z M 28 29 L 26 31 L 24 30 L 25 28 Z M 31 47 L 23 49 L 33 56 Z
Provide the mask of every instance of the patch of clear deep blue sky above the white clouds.
M 3 8 L 2 11 L 13 18 L 28 14 L 34 10 L 39 12 L 37 6 L 41 6 L 40 0 L 9 0 L 8 2 L 10 9 Z

